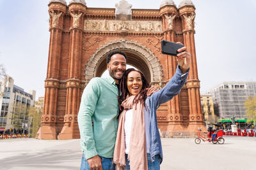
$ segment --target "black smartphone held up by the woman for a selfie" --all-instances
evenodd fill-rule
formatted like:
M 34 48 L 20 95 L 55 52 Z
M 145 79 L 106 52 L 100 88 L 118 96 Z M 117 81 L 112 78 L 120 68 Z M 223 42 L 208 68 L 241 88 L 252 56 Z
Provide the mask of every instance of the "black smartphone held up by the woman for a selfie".
M 184 45 L 173 43 L 171 41 L 166 41 L 162 40 L 161 41 L 161 48 L 162 48 L 162 53 L 167 54 L 167 55 L 173 55 L 177 56 L 179 48 L 182 48 Z

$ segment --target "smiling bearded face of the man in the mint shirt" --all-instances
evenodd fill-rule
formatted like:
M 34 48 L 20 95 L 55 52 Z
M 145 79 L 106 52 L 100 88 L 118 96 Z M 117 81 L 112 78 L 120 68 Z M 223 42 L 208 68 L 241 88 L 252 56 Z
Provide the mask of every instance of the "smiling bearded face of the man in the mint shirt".
M 115 53 L 114 55 L 112 55 L 109 64 L 107 64 L 107 68 L 109 71 L 109 75 L 114 80 L 120 80 L 124 75 L 124 71 L 126 69 L 126 60 L 124 55 L 121 55 L 119 53 Z

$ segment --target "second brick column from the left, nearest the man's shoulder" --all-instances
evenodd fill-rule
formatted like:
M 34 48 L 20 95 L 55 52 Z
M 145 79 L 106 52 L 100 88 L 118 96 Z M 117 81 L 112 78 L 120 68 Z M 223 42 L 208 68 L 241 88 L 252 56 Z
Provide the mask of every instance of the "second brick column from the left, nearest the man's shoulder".
M 83 23 L 86 6 L 84 4 L 72 3 L 68 6 L 70 14 L 70 53 L 68 62 L 68 80 L 67 80 L 67 101 L 66 113 L 64 117 L 64 126 L 58 135 L 58 139 L 77 139 L 79 128 L 77 124 L 77 113 L 80 105 L 81 94 L 81 55 Z

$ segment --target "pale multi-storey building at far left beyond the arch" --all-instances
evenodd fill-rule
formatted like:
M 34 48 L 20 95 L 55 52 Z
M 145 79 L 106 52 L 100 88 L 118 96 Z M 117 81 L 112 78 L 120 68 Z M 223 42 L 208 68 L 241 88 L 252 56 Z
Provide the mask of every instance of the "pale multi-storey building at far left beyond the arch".
M 16 132 L 28 129 L 28 111 L 35 103 L 35 90 L 25 92 L 21 87 L 14 85 L 14 80 L 6 76 L 0 86 L 0 133 Z

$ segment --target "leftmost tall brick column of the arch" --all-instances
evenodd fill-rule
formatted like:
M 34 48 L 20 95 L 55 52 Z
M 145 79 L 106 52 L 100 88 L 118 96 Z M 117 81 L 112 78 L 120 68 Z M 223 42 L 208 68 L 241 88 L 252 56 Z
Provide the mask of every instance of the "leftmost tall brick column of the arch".
M 60 81 L 60 55 L 61 39 L 63 32 L 63 16 L 67 6 L 62 3 L 50 3 L 50 28 L 51 32 L 47 77 L 45 80 L 44 113 L 40 132 L 41 139 L 56 139 L 56 107 L 57 94 Z

